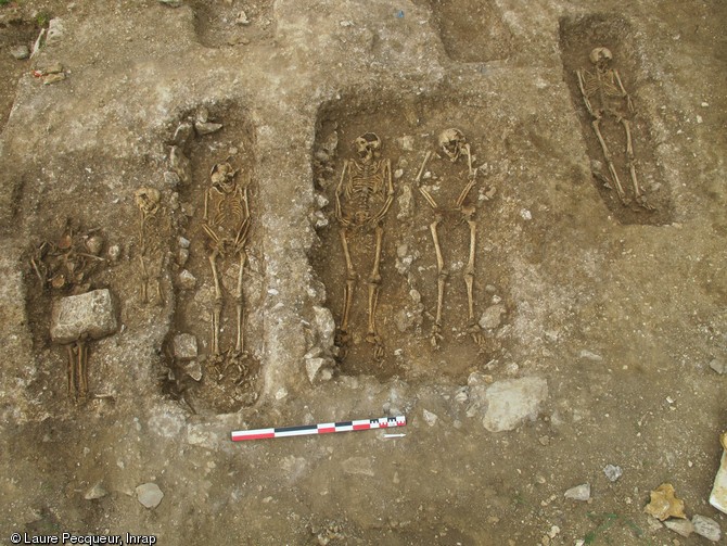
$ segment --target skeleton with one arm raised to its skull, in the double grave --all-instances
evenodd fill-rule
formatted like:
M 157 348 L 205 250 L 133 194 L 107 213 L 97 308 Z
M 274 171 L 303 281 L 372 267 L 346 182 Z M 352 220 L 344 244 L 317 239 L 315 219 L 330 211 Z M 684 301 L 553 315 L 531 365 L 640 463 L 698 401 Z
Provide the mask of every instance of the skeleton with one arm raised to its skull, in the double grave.
M 417 175 L 417 186 L 419 192 L 424 196 L 426 203 L 434 211 L 434 221 L 430 224 L 430 231 L 432 232 L 432 240 L 434 242 L 434 251 L 436 253 L 436 268 L 437 268 L 437 303 L 436 303 L 436 316 L 434 318 L 434 325 L 432 326 L 432 346 L 435 350 L 439 348 L 439 342 L 442 341 L 442 310 L 444 307 L 444 292 L 447 284 L 447 277 L 449 272 L 445 268 L 445 262 L 442 254 L 442 245 L 439 243 L 439 234 L 437 228 L 439 224 L 445 219 L 447 212 L 459 212 L 462 214 L 464 221 L 470 229 L 470 253 L 467 265 L 464 266 L 463 277 L 464 284 L 467 287 L 467 300 L 468 300 L 468 333 L 472 335 L 473 341 L 477 345 L 482 345 L 484 342 L 480 325 L 477 325 L 476 319 L 474 318 L 474 299 L 473 299 L 473 287 L 474 287 L 474 255 L 475 255 L 475 240 L 477 232 L 477 225 L 473 219 L 475 213 L 475 206 L 468 203 L 468 196 L 470 191 L 475 185 L 477 169 L 472 167 L 472 153 L 470 150 L 470 144 L 467 142 L 464 135 L 459 129 L 445 129 L 439 134 L 438 144 L 442 155 L 433 153 L 431 150 L 426 152 L 424 161 L 419 169 Z M 447 205 L 439 204 L 432 193 L 421 185 L 422 177 L 424 174 L 424 168 L 432 157 L 443 158 L 449 161 L 450 163 L 457 163 L 460 158 L 467 158 L 467 183 L 463 186 L 462 190 L 459 192 L 457 199 L 454 203 Z M 445 181 L 446 183 L 447 181 Z M 439 198 L 442 201 L 442 198 Z

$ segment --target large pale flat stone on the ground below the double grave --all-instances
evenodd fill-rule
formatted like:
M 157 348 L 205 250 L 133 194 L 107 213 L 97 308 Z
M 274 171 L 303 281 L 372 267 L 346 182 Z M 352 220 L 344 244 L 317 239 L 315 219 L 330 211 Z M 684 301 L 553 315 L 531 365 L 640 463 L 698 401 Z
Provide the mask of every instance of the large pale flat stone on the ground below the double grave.
M 513 430 L 525 420 L 535 420 L 547 397 L 548 383 L 541 378 L 493 383 L 484 396 L 487 410 L 483 424 L 490 432 Z

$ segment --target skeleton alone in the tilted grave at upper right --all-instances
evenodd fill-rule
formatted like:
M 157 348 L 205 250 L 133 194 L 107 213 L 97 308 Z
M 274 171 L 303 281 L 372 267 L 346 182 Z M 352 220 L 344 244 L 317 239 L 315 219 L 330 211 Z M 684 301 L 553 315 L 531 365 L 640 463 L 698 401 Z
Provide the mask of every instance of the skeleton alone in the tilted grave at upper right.
M 632 98 L 626 92 L 626 89 L 621 81 L 621 76 L 618 76 L 618 72 L 615 68 L 610 67 L 613 54 L 609 49 L 603 47 L 595 48 L 590 52 L 589 59 L 594 64 L 594 72 L 591 73 L 586 69 L 576 71 L 576 75 L 578 76 L 578 87 L 581 88 L 581 94 L 586 104 L 586 109 L 590 114 L 591 127 L 594 128 L 594 132 L 596 132 L 598 142 L 603 151 L 603 156 L 605 157 L 609 173 L 616 187 L 618 199 L 624 205 L 629 204 L 629 200 L 626 196 L 626 192 L 616 174 L 611 152 L 605 144 L 605 140 L 603 139 L 600 129 L 601 122 L 609 117 L 615 119 L 616 123 L 620 123 L 624 127 L 626 134 L 626 166 L 628 167 L 632 185 L 634 186 L 634 198 L 640 206 L 651 211 L 653 207 L 647 202 L 647 198 L 639 187 L 636 177 L 636 160 L 634 156 L 630 122 L 628 120 L 628 116 L 634 114 L 634 103 Z M 623 112 L 624 102 L 627 112 Z

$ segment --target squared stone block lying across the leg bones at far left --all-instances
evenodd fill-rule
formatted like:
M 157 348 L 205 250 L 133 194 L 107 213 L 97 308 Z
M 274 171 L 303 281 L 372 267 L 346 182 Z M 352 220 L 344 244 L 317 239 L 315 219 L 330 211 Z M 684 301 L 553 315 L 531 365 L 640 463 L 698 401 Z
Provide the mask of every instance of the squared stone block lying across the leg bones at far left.
M 72 343 L 86 334 L 98 340 L 116 331 L 114 301 L 107 289 L 60 297 L 51 309 L 51 339 Z

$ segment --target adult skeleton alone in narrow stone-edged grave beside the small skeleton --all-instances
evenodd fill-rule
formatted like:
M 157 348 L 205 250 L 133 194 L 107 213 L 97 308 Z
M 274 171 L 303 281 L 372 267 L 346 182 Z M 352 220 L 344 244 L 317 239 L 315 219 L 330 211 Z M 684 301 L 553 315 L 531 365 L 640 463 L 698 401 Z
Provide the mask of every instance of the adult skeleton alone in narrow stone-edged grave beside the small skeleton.
M 217 258 L 225 261 L 235 256 L 240 264 L 238 285 L 234 294 L 237 304 L 238 335 L 234 346 L 237 353 L 243 351 L 243 301 L 242 275 L 245 269 L 245 244 L 250 229 L 250 204 L 247 185 L 235 181 L 238 170 L 225 162 L 212 167 L 211 187 L 204 195 L 204 218 L 202 229 L 207 234 L 209 244 L 209 266 L 215 281 L 215 307 L 212 317 L 212 347 L 215 356 L 219 351 L 220 316 L 222 313 L 222 290 Z

